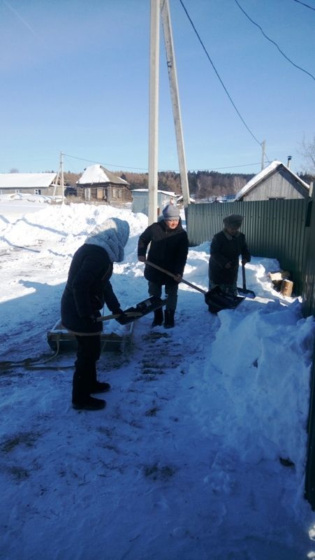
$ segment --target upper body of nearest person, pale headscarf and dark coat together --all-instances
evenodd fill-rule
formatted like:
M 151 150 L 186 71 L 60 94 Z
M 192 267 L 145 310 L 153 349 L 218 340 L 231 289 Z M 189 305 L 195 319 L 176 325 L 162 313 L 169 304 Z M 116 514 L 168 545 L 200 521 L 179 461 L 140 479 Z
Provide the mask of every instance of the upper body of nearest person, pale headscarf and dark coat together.
M 94 318 L 101 316 L 99 310 L 103 305 L 113 313 L 119 312 L 110 276 L 112 263 L 124 259 L 128 237 L 128 223 L 110 218 L 98 226 L 73 255 L 61 297 L 61 323 L 68 330 L 80 334 L 101 332 L 102 323 Z

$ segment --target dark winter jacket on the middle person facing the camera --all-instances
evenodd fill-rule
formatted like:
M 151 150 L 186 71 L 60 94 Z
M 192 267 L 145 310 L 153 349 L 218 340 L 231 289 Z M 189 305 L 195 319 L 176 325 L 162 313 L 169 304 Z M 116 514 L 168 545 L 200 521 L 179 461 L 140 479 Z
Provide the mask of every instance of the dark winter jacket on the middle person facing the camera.
M 171 230 L 165 221 L 155 222 L 140 235 L 138 256 L 145 257 L 147 246 L 151 243 L 147 260 L 155 265 L 182 276 L 188 254 L 188 237 L 180 220 L 177 228 Z M 145 266 L 145 278 L 159 285 L 177 283 L 167 274 Z

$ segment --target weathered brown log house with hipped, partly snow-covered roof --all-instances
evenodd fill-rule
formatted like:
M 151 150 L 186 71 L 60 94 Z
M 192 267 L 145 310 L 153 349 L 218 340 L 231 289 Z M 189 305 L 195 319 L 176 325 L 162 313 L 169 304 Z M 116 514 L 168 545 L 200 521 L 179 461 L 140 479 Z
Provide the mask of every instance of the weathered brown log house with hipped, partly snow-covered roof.
M 77 181 L 78 196 L 98 202 L 131 202 L 129 183 L 100 164 L 90 165 Z

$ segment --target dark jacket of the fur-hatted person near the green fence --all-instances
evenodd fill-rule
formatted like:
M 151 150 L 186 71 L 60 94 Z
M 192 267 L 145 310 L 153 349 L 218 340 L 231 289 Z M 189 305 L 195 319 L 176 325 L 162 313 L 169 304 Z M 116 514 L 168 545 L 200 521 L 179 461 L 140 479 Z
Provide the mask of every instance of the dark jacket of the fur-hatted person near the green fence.
M 233 284 L 237 281 L 239 257 L 251 260 L 244 233 L 229 235 L 225 230 L 214 235 L 210 245 L 209 279 L 216 284 Z M 225 268 L 230 262 L 231 267 Z

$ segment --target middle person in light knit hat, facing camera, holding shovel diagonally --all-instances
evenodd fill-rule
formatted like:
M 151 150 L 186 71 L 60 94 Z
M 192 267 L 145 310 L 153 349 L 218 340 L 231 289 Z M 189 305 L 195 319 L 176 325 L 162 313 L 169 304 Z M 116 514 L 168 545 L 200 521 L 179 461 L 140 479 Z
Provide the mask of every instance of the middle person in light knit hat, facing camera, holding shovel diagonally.
M 147 247 L 151 243 L 147 255 Z M 180 211 L 173 204 L 168 204 L 163 209 L 161 221 L 155 222 L 140 235 L 138 241 L 138 259 L 147 260 L 175 275 L 173 279 L 155 268 L 145 265 L 145 278 L 149 282 L 149 295 L 161 297 L 162 286 L 168 297 L 164 313 L 164 327 L 172 328 L 175 325 L 174 316 L 177 305 L 178 284 L 182 281 L 182 274 L 186 265 L 188 254 L 188 237 L 182 228 Z M 163 311 L 154 311 L 152 326 L 162 325 Z

